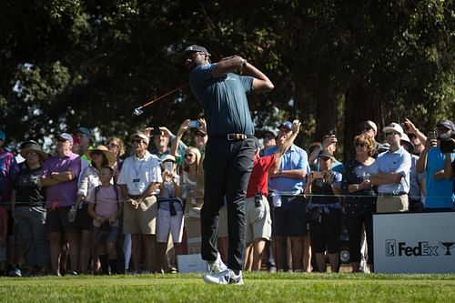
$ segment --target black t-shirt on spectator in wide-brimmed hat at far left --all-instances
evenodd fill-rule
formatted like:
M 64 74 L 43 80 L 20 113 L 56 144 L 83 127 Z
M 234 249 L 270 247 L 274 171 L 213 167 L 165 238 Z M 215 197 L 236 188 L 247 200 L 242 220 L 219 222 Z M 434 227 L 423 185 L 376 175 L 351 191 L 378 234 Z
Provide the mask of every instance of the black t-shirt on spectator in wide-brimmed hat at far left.
M 17 177 L 15 189 L 16 207 L 44 207 L 45 188 L 41 187 L 43 167 L 22 170 Z

